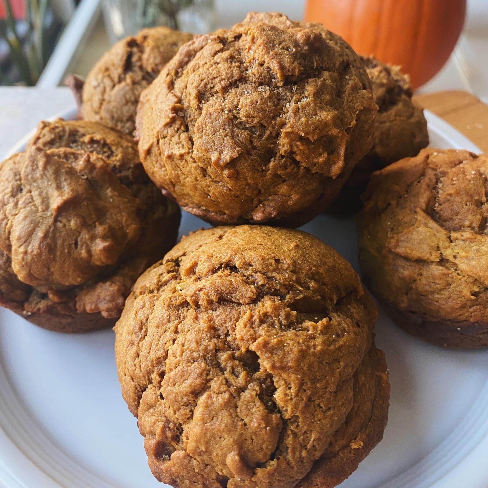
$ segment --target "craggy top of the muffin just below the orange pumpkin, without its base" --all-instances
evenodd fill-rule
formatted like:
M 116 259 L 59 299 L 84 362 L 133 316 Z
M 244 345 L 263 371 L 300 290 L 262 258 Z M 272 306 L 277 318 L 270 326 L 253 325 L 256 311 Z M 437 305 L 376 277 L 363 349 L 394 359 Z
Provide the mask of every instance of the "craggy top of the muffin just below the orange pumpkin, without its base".
M 400 66 L 382 63 L 374 56 L 361 56 L 361 60 L 378 105 L 374 144 L 368 154 L 377 160 L 372 171 L 401 158 L 416 156 L 426 147 L 427 121 L 422 107 L 412 100 L 410 80 Z

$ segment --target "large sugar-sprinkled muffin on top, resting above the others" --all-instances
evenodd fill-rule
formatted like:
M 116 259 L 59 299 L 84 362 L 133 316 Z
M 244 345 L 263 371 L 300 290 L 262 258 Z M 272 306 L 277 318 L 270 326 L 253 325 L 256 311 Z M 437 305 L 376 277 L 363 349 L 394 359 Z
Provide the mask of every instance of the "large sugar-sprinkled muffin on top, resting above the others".
M 370 89 L 358 56 L 322 24 L 251 13 L 185 44 L 144 90 L 141 161 L 209 222 L 298 226 L 371 148 Z

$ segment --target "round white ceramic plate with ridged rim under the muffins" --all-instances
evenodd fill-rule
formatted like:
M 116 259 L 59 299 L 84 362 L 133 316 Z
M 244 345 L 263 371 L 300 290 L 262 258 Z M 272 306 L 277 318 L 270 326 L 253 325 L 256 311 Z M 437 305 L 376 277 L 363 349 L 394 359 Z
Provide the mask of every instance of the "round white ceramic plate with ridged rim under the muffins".
M 426 116 L 432 146 L 479 152 L 446 122 Z M 183 214 L 180 235 L 208 226 Z M 303 228 L 358 269 L 352 221 L 321 215 Z M 122 400 L 113 342 L 112 330 L 63 335 L 1 309 L 0 485 L 163 486 L 147 467 L 142 436 Z M 390 368 L 388 425 L 341 488 L 487 488 L 488 350 L 430 346 L 385 315 L 376 343 Z

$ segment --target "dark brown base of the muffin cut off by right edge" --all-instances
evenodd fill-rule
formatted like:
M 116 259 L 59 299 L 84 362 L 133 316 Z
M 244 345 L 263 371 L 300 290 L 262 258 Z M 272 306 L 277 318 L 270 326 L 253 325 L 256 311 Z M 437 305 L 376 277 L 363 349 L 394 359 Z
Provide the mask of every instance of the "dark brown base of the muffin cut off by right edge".
M 420 320 L 382 303 L 388 317 L 409 334 L 440 347 L 479 349 L 488 347 L 488 322 Z

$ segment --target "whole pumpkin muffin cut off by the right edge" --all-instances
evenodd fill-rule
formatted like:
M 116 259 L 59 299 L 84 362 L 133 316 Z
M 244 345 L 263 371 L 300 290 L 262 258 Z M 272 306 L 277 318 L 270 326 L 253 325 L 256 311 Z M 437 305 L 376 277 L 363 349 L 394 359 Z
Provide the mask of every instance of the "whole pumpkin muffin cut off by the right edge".
M 439 346 L 488 346 L 487 179 L 487 156 L 424 149 L 373 173 L 357 219 L 366 284 Z

